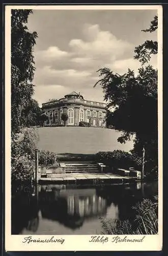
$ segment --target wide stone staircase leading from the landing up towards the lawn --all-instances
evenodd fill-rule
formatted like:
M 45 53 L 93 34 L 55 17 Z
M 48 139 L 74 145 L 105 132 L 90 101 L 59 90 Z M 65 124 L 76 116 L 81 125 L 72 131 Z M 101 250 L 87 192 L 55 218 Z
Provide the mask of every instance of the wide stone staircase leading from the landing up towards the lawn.
M 99 165 L 94 163 L 66 163 L 66 173 L 98 173 Z

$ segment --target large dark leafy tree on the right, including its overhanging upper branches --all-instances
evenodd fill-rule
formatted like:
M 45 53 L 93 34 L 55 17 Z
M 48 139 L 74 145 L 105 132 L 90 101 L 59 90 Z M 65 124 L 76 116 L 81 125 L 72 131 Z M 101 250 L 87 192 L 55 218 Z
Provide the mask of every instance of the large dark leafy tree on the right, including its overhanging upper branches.
M 146 31 L 157 29 L 157 17 L 151 22 Z M 144 64 L 151 54 L 156 54 L 156 45 L 144 43 L 143 47 L 135 48 L 136 59 Z M 96 82 L 103 89 L 104 100 L 114 111 L 110 116 L 110 124 L 117 130 L 123 131 L 118 141 L 125 143 L 135 135 L 134 152 L 142 155 L 142 148 L 146 148 L 146 160 L 150 169 L 157 166 L 157 70 L 152 66 L 141 67 L 138 75 L 128 69 L 124 75 L 114 73 L 108 68 L 98 70 L 101 79 Z M 108 115 L 107 115 L 108 117 Z

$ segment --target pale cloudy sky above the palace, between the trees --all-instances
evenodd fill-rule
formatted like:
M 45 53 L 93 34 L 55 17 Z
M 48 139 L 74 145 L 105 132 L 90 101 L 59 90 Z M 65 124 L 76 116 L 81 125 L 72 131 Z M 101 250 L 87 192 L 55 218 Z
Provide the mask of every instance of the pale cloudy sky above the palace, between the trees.
M 134 48 L 157 33 L 145 33 L 156 10 L 33 10 L 27 27 L 36 31 L 34 47 L 34 98 L 41 103 L 60 99 L 72 91 L 87 100 L 103 102 L 103 91 L 94 84 L 96 72 L 108 67 L 137 74 L 141 63 Z M 157 67 L 157 59 L 151 59 Z

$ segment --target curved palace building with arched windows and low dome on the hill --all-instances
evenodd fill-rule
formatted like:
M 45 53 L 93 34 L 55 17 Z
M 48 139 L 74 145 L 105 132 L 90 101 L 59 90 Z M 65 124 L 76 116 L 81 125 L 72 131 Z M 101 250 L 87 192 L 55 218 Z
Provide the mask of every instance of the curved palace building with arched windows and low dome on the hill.
M 48 125 L 63 124 L 61 116 L 67 113 L 69 126 L 79 126 L 83 121 L 93 127 L 106 127 L 106 104 L 86 100 L 80 93 L 72 92 L 59 100 L 43 103 L 42 110 L 49 117 Z

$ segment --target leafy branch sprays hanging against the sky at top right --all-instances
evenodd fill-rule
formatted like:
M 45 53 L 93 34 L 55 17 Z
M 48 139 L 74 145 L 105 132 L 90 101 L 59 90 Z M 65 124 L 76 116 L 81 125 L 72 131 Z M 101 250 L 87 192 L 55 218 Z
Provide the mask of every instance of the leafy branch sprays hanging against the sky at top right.
M 144 32 L 154 32 L 158 28 L 158 17 L 155 16 L 151 22 L 151 26 L 149 29 L 142 30 Z M 135 59 L 138 59 L 143 64 L 148 62 L 151 59 L 151 54 L 157 54 L 158 44 L 157 41 L 146 40 L 142 45 L 135 47 Z

